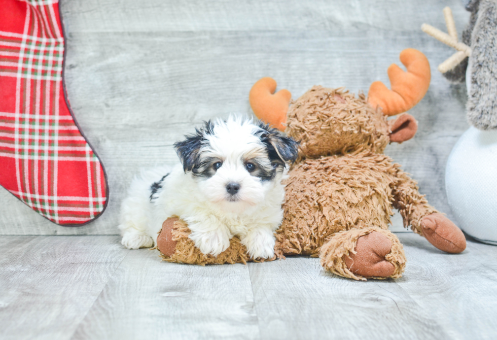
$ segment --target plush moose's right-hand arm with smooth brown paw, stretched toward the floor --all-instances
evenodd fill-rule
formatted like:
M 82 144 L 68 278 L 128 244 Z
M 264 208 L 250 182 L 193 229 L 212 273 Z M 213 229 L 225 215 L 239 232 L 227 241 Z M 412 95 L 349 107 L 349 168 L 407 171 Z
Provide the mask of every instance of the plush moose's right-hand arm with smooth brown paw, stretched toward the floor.
M 466 249 L 463 232 L 444 215 L 428 204 L 418 191 L 416 181 L 398 170 L 397 183 L 392 191 L 394 207 L 404 219 L 404 226 L 424 236 L 432 245 L 448 253 L 460 253 Z

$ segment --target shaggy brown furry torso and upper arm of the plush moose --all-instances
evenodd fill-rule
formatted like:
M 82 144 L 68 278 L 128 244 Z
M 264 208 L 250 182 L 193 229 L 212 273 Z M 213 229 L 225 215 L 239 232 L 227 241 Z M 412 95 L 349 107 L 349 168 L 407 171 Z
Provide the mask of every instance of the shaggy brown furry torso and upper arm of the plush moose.
M 336 232 L 370 226 L 386 230 L 392 202 L 419 233 L 419 219 L 436 210 L 399 167 L 388 156 L 370 150 L 297 164 L 286 181 L 276 254 L 317 256 Z

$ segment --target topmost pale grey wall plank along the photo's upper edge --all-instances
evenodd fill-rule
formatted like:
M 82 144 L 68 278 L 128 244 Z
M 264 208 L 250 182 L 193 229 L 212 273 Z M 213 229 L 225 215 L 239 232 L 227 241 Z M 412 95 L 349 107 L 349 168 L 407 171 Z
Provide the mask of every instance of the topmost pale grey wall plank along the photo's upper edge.
M 442 22 L 450 6 L 457 28 L 468 15 L 457 1 L 264 1 L 236 0 L 86 0 L 63 8 L 78 14 L 70 31 L 209 31 L 209 30 L 384 30 L 418 31 L 419 22 Z M 436 17 L 429 21 L 428 18 Z M 439 17 L 442 17 L 441 19 Z M 445 24 L 441 27 L 445 30 Z M 459 29 L 460 32 L 460 29 Z

